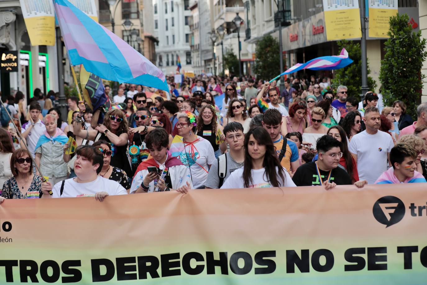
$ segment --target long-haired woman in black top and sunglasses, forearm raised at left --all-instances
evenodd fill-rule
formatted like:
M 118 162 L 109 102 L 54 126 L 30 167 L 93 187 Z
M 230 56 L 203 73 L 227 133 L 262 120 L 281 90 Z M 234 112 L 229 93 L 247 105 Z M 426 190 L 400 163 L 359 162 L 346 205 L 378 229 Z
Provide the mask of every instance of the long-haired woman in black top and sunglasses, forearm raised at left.
M 79 105 L 79 108 L 82 105 Z M 82 109 L 80 109 L 82 112 Z M 90 141 L 105 140 L 111 143 L 111 165 L 132 173 L 127 156 L 129 125 L 123 109 L 110 109 L 104 115 L 104 122 L 94 130 L 82 130 L 82 116 L 78 115 L 74 127 L 74 135 Z

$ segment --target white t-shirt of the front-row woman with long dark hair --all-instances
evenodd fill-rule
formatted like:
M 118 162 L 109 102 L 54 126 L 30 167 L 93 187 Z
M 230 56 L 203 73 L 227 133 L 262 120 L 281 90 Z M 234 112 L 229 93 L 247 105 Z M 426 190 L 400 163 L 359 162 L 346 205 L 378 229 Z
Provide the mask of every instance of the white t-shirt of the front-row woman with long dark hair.
M 291 176 L 285 167 L 282 167 L 285 173 L 285 181 L 281 181 L 278 176 L 279 186 L 281 187 L 296 187 L 295 183 L 292 181 Z M 261 169 L 252 169 L 252 184 L 249 185 L 249 188 L 271 188 L 273 187 L 270 182 L 267 180 L 265 174 L 265 168 Z M 225 180 L 224 184 L 221 186 L 221 189 L 231 189 L 231 188 L 245 188 L 245 181 L 243 180 L 243 167 L 235 170 L 231 173 L 230 177 Z

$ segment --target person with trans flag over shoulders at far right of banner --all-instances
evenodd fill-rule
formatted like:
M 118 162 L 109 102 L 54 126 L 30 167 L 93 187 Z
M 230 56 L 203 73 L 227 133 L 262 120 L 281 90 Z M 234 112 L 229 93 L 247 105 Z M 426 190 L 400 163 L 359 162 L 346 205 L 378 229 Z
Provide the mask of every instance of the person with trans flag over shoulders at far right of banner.
M 424 176 L 416 171 L 417 151 L 409 144 L 398 142 L 390 151 L 392 167 L 383 172 L 375 184 L 421 183 L 427 182 Z

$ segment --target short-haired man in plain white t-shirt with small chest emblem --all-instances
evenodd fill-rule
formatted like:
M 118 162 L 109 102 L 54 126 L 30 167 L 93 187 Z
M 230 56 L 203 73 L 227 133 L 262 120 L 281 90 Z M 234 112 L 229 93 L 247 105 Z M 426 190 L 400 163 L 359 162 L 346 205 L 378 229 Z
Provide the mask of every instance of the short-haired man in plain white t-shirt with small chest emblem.
M 360 180 L 374 184 L 378 177 L 387 170 L 390 151 L 394 147 L 392 136 L 380 131 L 380 112 L 376 107 L 365 110 L 363 122 L 366 130 L 351 138 L 348 150 L 357 162 Z

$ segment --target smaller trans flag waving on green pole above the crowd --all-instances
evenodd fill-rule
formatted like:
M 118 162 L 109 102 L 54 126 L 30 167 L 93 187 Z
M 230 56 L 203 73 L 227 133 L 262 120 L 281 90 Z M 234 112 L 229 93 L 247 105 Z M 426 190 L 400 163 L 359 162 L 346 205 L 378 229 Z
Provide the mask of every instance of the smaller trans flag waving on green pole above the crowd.
M 294 73 L 303 69 L 312 69 L 312 70 L 331 70 L 344 68 L 347 65 L 353 62 L 352 59 L 348 58 L 348 52 L 343 48 L 339 56 L 321 56 L 315 59 L 312 59 L 306 63 L 297 63 L 296 65 L 289 68 L 284 73 L 279 74 L 275 78 L 270 80 L 270 83 L 278 79 L 280 76 L 285 74 Z

